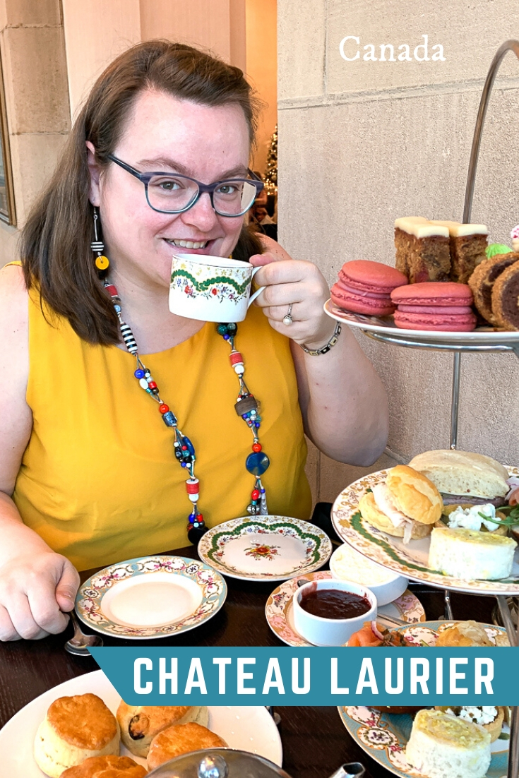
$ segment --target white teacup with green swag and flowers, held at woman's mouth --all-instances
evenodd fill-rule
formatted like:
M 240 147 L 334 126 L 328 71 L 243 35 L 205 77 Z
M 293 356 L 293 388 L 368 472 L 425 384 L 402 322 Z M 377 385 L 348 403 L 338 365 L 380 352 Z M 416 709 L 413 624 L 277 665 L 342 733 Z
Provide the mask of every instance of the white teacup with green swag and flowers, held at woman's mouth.
M 263 289 L 251 295 L 260 268 L 209 254 L 175 254 L 171 265 L 170 311 L 199 321 L 244 321 Z

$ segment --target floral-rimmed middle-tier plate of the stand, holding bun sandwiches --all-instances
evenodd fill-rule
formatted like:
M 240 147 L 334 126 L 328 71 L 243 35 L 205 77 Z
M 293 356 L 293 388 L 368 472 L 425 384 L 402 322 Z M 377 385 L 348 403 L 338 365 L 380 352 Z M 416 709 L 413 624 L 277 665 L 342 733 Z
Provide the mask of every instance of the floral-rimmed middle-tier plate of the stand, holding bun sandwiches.
M 505 465 L 510 475 L 519 475 L 519 468 Z M 343 541 L 352 545 L 373 562 L 394 570 L 406 578 L 423 581 L 442 589 L 465 591 L 468 594 L 519 595 L 519 546 L 514 555 L 510 578 L 500 580 L 463 580 L 447 576 L 429 566 L 430 536 L 409 541 L 395 538 L 372 527 L 359 513 L 359 499 L 374 484 L 384 481 L 387 470 L 364 475 L 341 492 L 331 509 L 335 531 Z

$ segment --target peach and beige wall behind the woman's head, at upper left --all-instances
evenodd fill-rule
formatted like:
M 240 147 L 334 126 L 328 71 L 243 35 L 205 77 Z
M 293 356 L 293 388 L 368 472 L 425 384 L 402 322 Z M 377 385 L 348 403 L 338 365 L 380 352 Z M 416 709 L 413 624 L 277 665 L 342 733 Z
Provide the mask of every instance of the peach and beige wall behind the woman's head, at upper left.
M 117 54 L 166 37 L 242 68 L 265 103 L 254 164 L 265 166 L 275 128 L 276 0 L 0 0 L 16 226 L 0 222 L 0 267 L 58 162 L 90 87 Z

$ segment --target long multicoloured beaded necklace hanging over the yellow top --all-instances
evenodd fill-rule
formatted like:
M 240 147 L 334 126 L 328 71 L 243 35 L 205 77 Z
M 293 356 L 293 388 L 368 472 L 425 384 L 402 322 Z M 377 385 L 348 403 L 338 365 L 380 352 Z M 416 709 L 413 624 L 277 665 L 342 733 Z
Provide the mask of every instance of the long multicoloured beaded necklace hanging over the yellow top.
M 128 349 L 128 352 L 135 356 L 137 360 L 137 367 L 134 371 L 135 378 L 139 381 L 139 386 L 142 387 L 146 394 L 155 400 L 159 405 L 159 412 L 162 416 L 163 422 L 167 427 L 174 429 L 174 454 L 177 461 L 180 463 L 181 468 L 184 468 L 188 473 L 188 479 L 186 480 L 186 490 L 188 492 L 188 498 L 191 500 L 191 513 L 188 516 L 188 539 L 191 543 L 198 543 L 198 540 L 202 537 L 207 527 L 205 527 L 204 517 L 198 510 L 198 499 L 200 496 L 199 481 L 195 476 L 195 461 L 196 453 L 195 446 L 191 443 L 188 436 L 184 435 L 178 426 L 178 421 L 174 412 L 170 410 L 170 406 L 165 403 L 160 397 L 159 387 L 156 381 L 153 380 L 153 376 L 142 363 L 142 359 L 139 356 L 139 348 L 135 341 L 132 328 L 129 324 L 126 324 L 121 317 L 121 298 L 117 293 L 117 289 L 114 284 L 104 282 L 104 288 L 110 295 L 111 301 L 114 305 L 115 313 L 117 314 L 117 320 L 119 322 L 119 328 L 121 330 L 121 336 L 124 345 Z M 238 325 L 218 324 L 216 332 L 223 337 L 223 339 L 230 345 L 230 365 L 237 374 L 240 388 L 238 391 L 237 401 L 234 408 L 237 415 L 244 419 L 252 433 L 252 453 L 247 456 L 245 460 L 245 468 L 247 471 L 254 475 L 254 489 L 251 492 L 251 503 L 247 506 L 247 512 L 251 515 L 257 515 L 258 513 L 265 516 L 268 513 L 267 509 L 267 496 L 265 487 L 261 483 L 261 475 L 267 470 L 270 460 L 265 452 L 262 450 L 261 443 L 259 442 L 259 429 L 261 426 L 261 416 L 258 412 L 258 401 L 254 398 L 254 395 L 247 388 L 247 384 L 244 381 L 244 359 L 240 352 L 235 348 L 235 338 L 238 331 Z

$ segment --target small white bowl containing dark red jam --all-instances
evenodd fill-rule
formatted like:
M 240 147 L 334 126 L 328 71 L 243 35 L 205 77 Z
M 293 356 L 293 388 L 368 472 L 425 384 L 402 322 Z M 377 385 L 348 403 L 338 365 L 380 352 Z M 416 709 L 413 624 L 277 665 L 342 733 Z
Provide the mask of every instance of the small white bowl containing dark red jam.
M 314 616 L 301 608 L 300 601 L 305 591 L 315 589 L 340 589 L 352 594 L 359 594 L 370 602 L 370 610 L 352 619 L 326 619 L 323 616 Z M 364 622 L 371 622 L 377 618 L 377 598 L 372 591 L 352 581 L 324 578 L 322 580 L 308 581 L 293 594 L 293 620 L 296 632 L 314 646 L 343 646 L 353 633 L 363 626 Z

